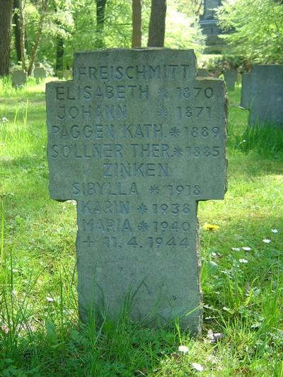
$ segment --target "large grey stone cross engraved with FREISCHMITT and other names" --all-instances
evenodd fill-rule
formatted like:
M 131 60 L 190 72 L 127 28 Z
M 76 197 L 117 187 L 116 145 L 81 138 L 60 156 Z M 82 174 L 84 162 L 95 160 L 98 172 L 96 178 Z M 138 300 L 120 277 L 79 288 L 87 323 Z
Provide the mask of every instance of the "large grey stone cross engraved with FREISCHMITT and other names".
M 197 202 L 226 192 L 226 93 L 196 74 L 193 50 L 104 50 L 47 83 L 50 195 L 77 202 L 83 320 L 132 297 L 133 319 L 200 332 Z

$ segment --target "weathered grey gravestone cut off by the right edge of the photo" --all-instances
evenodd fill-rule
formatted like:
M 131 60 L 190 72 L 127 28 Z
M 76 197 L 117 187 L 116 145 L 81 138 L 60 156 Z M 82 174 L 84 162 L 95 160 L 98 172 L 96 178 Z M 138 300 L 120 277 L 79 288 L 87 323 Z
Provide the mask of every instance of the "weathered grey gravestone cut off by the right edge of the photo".
M 283 65 L 253 66 L 249 108 L 251 126 L 283 127 Z

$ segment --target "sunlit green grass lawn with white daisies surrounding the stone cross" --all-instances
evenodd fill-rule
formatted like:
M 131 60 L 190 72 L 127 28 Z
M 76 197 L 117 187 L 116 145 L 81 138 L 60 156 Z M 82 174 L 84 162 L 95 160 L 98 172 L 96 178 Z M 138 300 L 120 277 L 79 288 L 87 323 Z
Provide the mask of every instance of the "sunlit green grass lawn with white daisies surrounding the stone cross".
M 283 376 L 282 132 L 246 132 L 229 93 L 229 190 L 199 205 L 202 337 L 127 315 L 87 327 L 76 207 L 48 193 L 44 91 L 0 81 L 0 376 Z

